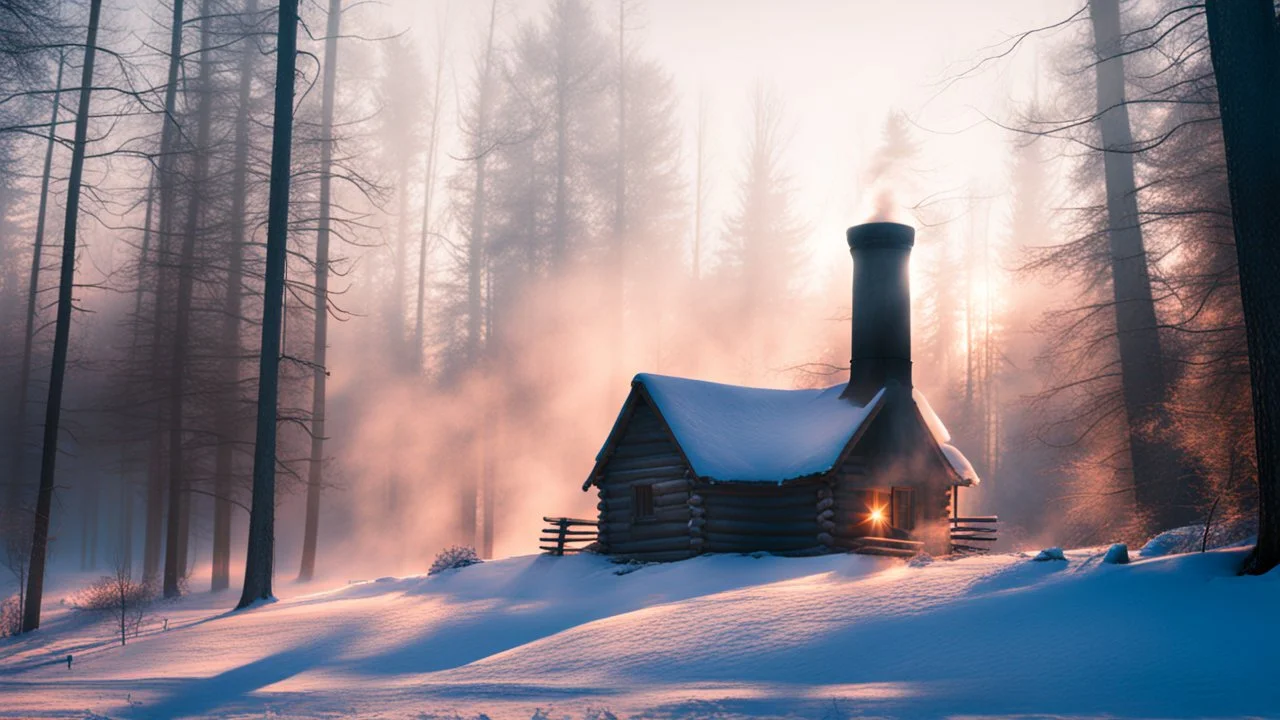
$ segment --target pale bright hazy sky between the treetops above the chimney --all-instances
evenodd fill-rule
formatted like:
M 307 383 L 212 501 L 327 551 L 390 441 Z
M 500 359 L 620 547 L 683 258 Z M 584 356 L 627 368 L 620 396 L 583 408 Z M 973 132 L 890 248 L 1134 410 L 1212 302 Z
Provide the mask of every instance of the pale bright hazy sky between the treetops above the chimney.
M 401 22 L 435 42 L 448 17 L 460 79 L 470 70 L 468 45 L 486 19 L 483 0 L 392 0 Z M 617 3 L 594 0 L 607 27 L 617 27 Z M 787 169 L 799 217 L 812 228 L 814 268 L 841 261 L 844 228 L 872 211 L 867 164 L 879 145 L 886 117 L 902 110 L 923 128 L 952 132 L 980 120 L 979 110 L 1004 115 L 1032 94 L 1032 76 L 1047 68 L 1027 44 L 1012 58 L 951 86 L 955 72 L 983 49 L 1030 27 L 1065 18 L 1076 0 L 640 0 L 628 32 L 641 51 L 673 74 L 686 127 L 687 176 L 692 177 L 699 94 L 709 106 L 712 201 L 704 242 L 714 252 L 719 218 L 733 202 L 746 129 L 748 97 L 758 81 L 786 102 L 791 142 Z M 507 35 L 535 18 L 543 0 L 506 0 Z M 447 15 L 445 15 L 447 13 Z M 434 53 L 425 47 L 424 58 Z M 1043 88 L 1043 83 L 1042 83 Z M 452 109 L 451 109 L 452 110 Z M 979 126 L 961 135 L 918 132 L 923 160 L 910 205 L 936 193 L 964 193 L 972 183 L 1004 192 L 1009 136 Z M 690 191 L 691 192 L 691 191 Z M 998 202 L 998 201 L 997 201 Z M 1000 218 L 1001 214 L 993 214 Z

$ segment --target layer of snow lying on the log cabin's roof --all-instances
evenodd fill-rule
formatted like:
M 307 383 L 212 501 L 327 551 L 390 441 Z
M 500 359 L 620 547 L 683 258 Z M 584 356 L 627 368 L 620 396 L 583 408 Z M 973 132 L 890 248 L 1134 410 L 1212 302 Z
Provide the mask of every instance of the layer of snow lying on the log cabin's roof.
M 662 414 L 694 473 L 719 482 L 781 483 L 831 470 L 884 397 L 867 405 L 824 389 L 769 389 L 640 373 L 635 377 Z M 946 445 L 946 425 L 919 391 L 911 392 L 947 462 L 965 482 L 978 475 Z M 596 460 L 603 459 L 605 447 Z

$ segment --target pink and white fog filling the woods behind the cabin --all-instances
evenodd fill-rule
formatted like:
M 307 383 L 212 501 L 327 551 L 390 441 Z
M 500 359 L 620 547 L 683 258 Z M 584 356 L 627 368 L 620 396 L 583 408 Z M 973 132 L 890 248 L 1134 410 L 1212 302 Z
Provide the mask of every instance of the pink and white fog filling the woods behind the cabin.
M 204 6 L 234 15 L 241 5 Z M 282 579 L 294 575 L 302 548 L 314 427 L 325 5 L 302 4 L 278 452 Z M 1129 505 L 1100 512 L 1070 500 L 1108 497 L 1119 475 L 1107 457 L 1124 432 L 1111 428 L 1098 439 L 1092 427 L 1073 434 L 1055 424 L 1074 410 L 1052 389 L 1098 373 L 1062 354 L 1050 360 L 1055 338 L 1064 337 L 1055 313 L 1088 305 L 1107 287 L 1080 270 L 1084 260 L 1050 261 L 1043 250 L 1088 236 L 1097 214 L 1084 206 L 1100 206 L 1105 192 L 1101 176 L 1089 176 L 1096 161 L 1080 142 L 1087 129 L 1034 135 L 1094 111 L 1093 88 L 1082 85 L 1092 56 L 1078 3 L 346 5 L 323 364 L 320 577 L 421 573 L 451 544 L 490 556 L 535 552 L 544 515 L 594 516 L 596 497 L 582 492 L 582 482 L 636 373 L 778 388 L 845 382 L 852 282 L 845 229 L 872 219 L 918 231 L 914 382 L 983 475 L 965 496 L 966 510 L 1001 516 L 1002 548 L 1103 541 L 1137 528 Z M 1129 3 L 1125 12 L 1147 17 L 1158 6 Z M 142 0 L 115 0 L 104 10 L 105 45 L 124 58 L 105 72 L 151 90 L 108 94 L 93 122 L 97 155 L 87 163 L 65 460 L 52 516 L 55 571 L 87 571 L 122 555 L 141 562 L 145 552 L 156 471 L 148 454 L 164 452 L 148 450 L 156 442 L 148 404 L 172 392 L 161 387 L 172 378 L 148 365 L 168 356 L 138 350 L 150 348 L 152 329 L 157 342 L 169 337 L 163 318 L 173 311 L 164 309 L 165 281 L 142 240 L 151 232 L 152 173 L 164 177 L 156 170 L 156 88 L 169 13 Z M 74 8 L 65 14 L 82 22 Z M 259 23 L 274 27 L 274 18 L 262 12 Z M 214 113 L 210 143 L 210 187 L 218 190 L 188 183 L 172 200 L 183 209 L 207 197 L 196 250 L 195 352 L 178 386 L 189 395 L 191 587 L 211 574 L 214 468 L 224 445 L 234 447 L 233 584 L 242 573 L 274 53 L 269 38 L 252 40 L 262 53 L 253 70 L 261 77 L 251 83 L 250 240 L 241 340 L 228 348 L 216 340 L 233 206 L 223 187 L 234 174 L 237 59 L 251 41 L 241 26 L 218 27 L 212 76 L 227 99 Z M 198 47 L 196 23 L 184 41 Z M 189 53 L 183 74 L 196 77 Z M 193 108 L 178 104 L 186 127 L 179 145 L 195 142 Z M 1135 113 L 1134 122 L 1140 137 L 1164 117 Z M 12 405 L 17 375 L 9 368 L 19 355 L 44 145 L 38 133 L 10 145 L 8 158 L 23 168 L 6 186 L 0 245 L 3 327 L 14 338 L 4 352 Z M 186 159 L 191 147 L 182 152 L 175 177 L 186 183 L 195 165 Z M 54 164 L 51 225 L 60 225 L 64 202 L 63 155 Z M 1152 229 L 1153 245 L 1172 237 L 1160 233 Z M 51 268 L 55 255 L 45 252 Z M 1167 272 L 1156 274 L 1170 277 L 1183 258 L 1161 254 Z M 41 287 L 55 277 L 46 270 Z M 17 480 L 26 484 L 38 464 L 47 305 L 38 304 L 35 342 L 38 389 L 31 395 L 38 400 L 5 425 L 24 443 L 22 452 L 5 452 L 27 457 Z M 1093 357 L 1105 364 L 1114 355 L 1108 345 Z M 239 357 L 236 382 L 219 375 L 227 356 Z M 215 421 L 219 398 L 236 407 L 234 432 Z

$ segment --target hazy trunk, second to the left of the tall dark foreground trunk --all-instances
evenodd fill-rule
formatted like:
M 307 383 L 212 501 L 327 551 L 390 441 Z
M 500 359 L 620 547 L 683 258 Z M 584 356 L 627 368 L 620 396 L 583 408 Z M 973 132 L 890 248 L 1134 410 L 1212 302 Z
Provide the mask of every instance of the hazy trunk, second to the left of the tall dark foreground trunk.
M 210 1 L 200 4 L 200 69 L 196 77 L 196 146 L 191 197 L 187 200 L 187 222 L 182 233 L 182 252 L 178 258 L 178 306 L 174 315 L 173 354 L 169 365 L 169 527 L 165 539 L 164 596 L 178 597 L 179 582 L 187 575 L 187 542 L 191 537 L 191 495 L 186 477 L 183 454 L 183 423 L 186 414 L 187 354 L 191 343 L 191 305 L 195 291 L 196 236 L 209 176 L 209 137 L 212 124 L 210 32 L 212 14 Z

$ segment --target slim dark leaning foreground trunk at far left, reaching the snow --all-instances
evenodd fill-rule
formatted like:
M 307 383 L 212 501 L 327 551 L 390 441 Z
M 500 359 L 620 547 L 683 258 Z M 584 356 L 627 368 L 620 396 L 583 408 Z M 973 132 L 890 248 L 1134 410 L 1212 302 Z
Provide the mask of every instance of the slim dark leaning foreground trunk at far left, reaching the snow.
M 58 460 L 58 428 L 63 409 L 63 380 L 67 375 L 67 345 L 72 332 L 72 286 L 76 283 L 76 229 L 79 219 L 81 178 L 84 176 L 84 146 L 88 136 L 90 96 L 93 87 L 93 59 L 97 55 L 97 22 L 102 0 L 90 0 L 88 33 L 84 40 L 84 65 L 81 70 L 79 108 L 76 111 L 76 140 L 72 169 L 67 179 L 67 214 L 63 223 L 63 259 L 58 279 L 58 319 L 54 325 L 54 356 L 49 370 L 49 402 L 45 406 L 45 437 L 40 456 L 40 492 L 31 541 L 31 568 L 22 614 L 22 632 L 40 626 L 40 603 L 45 597 L 45 559 L 49 553 L 49 512 L 54 503 L 54 464 Z

